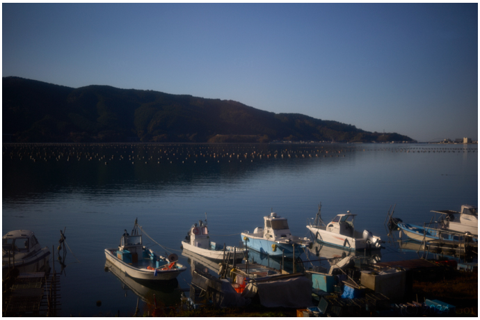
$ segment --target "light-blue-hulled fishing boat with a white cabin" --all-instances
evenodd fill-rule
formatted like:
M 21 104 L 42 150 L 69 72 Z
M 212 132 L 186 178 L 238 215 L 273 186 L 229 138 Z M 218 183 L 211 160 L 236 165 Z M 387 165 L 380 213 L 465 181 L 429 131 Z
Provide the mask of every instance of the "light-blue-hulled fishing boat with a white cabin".
M 278 257 L 298 257 L 302 248 L 312 243 L 308 238 L 292 236 L 287 218 L 277 216 L 275 212 L 264 216 L 264 227 L 256 227 L 253 233 L 242 232 L 241 239 L 248 248 Z

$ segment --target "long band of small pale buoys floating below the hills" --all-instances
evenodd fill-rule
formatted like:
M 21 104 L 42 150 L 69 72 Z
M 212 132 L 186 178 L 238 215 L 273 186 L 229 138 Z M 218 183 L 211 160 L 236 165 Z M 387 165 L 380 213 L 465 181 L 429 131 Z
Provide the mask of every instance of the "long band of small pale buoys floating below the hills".
M 98 161 L 109 163 L 231 163 L 271 159 L 346 157 L 351 152 L 468 153 L 474 147 L 360 147 L 358 145 L 206 145 L 206 144 L 4 144 L 3 157 L 23 161 Z M 201 160 L 201 161 L 200 161 Z

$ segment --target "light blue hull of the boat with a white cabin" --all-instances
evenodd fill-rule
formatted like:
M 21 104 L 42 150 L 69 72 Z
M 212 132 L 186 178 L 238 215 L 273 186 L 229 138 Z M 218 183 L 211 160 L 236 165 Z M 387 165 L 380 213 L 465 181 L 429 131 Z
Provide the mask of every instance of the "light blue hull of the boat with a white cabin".
M 282 255 L 284 254 L 285 257 L 293 257 L 294 251 L 295 257 L 299 257 L 303 252 L 303 248 L 305 247 L 303 244 L 299 244 L 293 241 L 291 243 L 269 241 L 264 238 L 255 237 L 253 234 L 248 233 L 241 233 L 241 239 L 244 243 L 246 243 L 246 246 L 248 248 L 255 250 L 259 253 L 276 257 L 282 257 Z

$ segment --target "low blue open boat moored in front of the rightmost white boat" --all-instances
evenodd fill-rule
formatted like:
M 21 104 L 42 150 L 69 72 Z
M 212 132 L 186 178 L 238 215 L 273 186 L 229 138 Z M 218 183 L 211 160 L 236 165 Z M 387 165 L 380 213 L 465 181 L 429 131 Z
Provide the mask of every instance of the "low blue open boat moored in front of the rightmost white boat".
M 457 243 L 458 245 L 466 243 L 470 246 L 477 246 L 478 243 L 478 237 L 463 232 L 441 230 L 435 227 L 422 227 L 403 222 L 398 223 L 397 227 L 410 239 L 420 242 Z

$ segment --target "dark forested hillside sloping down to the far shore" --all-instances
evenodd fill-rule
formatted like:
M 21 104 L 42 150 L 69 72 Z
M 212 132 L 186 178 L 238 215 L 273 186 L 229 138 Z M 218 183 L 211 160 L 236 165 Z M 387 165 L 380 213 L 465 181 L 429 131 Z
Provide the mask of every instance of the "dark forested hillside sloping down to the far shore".
M 3 77 L 2 89 L 4 142 L 412 141 L 231 100 L 111 86 L 75 89 L 18 77 Z

